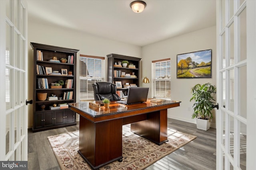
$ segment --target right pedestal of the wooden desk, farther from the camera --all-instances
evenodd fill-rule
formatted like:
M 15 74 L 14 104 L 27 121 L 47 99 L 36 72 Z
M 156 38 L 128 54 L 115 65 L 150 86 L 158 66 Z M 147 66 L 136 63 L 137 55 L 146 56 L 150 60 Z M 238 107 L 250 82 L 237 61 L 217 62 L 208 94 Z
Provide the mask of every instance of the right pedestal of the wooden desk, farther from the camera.
M 131 131 L 158 145 L 167 139 L 167 109 L 147 113 L 147 120 L 132 123 Z

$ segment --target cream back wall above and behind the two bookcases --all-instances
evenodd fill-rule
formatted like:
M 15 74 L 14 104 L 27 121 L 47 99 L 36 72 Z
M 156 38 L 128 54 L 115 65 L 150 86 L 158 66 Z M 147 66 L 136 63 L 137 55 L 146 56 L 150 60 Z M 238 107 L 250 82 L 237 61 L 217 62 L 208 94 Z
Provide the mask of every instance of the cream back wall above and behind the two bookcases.
M 104 29 L 104 28 L 102 28 Z M 28 89 L 33 89 L 33 53 L 30 42 L 79 49 L 77 57 L 80 54 L 105 57 L 106 70 L 107 57 L 110 53 L 128 55 L 141 58 L 142 48 L 136 45 L 130 45 L 110 39 L 104 39 L 84 32 L 56 27 L 53 25 L 44 25 L 42 23 L 32 23 L 28 21 Z M 79 60 L 77 60 L 77 72 L 79 72 Z M 107 72 L 105 77 L 107 78 Z M 77 98 L 79 100 L 79 75 L 77 74 Z M 107 79 L 106 79 L 107 80 Z M 28 99 L 33 98 L 33 90 L 28 90 Z M 33 124 L 33 108 L 28 106 L 28 128 Z

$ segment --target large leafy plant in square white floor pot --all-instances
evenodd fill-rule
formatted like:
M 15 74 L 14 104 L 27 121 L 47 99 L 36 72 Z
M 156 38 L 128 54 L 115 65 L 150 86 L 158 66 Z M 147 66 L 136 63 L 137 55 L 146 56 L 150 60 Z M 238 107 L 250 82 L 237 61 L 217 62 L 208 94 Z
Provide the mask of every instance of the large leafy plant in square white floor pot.
M 216 87 L 210 83 L 196 84 L 192 90 L 192 100 L 195 101 L 193 104 L 194 113 L 192 119 L 196 119 L 197 129 L 207 131 L 210 128 L 210 119 L 212 116 L 212 109 L 214 109 L 214 98 L 212 94 L 216 93 Z M 210 118 L 210 119 L 208 119 Z M 203 124 L 202 124 L 203 123 Z

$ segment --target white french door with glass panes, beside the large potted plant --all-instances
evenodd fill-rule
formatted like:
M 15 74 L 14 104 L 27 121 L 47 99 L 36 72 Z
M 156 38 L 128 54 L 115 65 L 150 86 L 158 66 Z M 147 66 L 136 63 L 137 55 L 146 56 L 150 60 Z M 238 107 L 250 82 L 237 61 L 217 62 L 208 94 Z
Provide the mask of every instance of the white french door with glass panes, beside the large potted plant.
M 220 104 L 216 113 L 216 169 L 256 169 L 256 96 L 252 88 L 252 83 L 254 88 L 256 84 L 255 63 L 252 63 L 256 55 L 256 3 L 255 0 L 216 3 L 217 101 Z

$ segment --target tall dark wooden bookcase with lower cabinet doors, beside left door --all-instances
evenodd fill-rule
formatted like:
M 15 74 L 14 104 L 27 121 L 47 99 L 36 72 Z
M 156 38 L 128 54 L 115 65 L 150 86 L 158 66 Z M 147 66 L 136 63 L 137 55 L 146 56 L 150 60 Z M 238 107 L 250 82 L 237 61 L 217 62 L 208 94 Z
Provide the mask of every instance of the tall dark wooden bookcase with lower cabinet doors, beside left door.
M 76 125 L 76 113 L 70 108 L 56 109 L 58 108 L 56 107 L 55 109 L 50 109 L 50 107 L 54 104 L 58 106 L 58 104 L 76 102 L 76 53 L 79 50 L 38 43 L 30 43 L 30 45 L 33 49 L 34 58 L 32 130 L 35 132 Z M 50 61 L 53 57 L 57 57 L 57 60 Z M 70 58 L 70 60 L 66 63 L 58 62 L 62 58 Z M 46 73 L 46 67 L 48 69 L 51 68 L 52 72 L 59 73 L 48 74 Z M 62 71 L 62 69 L 64 70 Z M 72 71 L 72 75 L 64 75 L 68 71 Z M 59 88 L 51 86 L 52 83 L 56 83 L 59 80 L 70 82 L 71 85 L 66 87 L 64 84 L 63 86 L 58 86 Z M 42 101 L 38 99 L 38 93 L 47 93 L 47 98 L 56 96 L 58 99 Z M 69 94 L 69 96 L 66 95 L 64 99 L 64 94 Z M 44 109 L 42 109 L 42 105 L 45 106 Z

